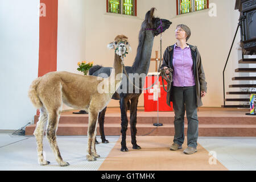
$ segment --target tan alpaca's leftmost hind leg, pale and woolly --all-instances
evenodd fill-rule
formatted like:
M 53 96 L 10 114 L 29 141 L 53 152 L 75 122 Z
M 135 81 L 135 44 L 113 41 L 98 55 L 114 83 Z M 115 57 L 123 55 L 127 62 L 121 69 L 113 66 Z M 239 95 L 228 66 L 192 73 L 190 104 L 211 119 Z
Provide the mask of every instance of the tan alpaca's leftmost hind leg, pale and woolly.
M 46 109 L 42 107 L 40 109 L 39 121 L 36 123 L 36 129 L 34 131 L 37 150 L 38 150 L 38 163 L 40 165 L 49 164 L 49 162 L 46 161 L 43 156 L 43 137 L 44 137 L 44 129 L 46 127 L 46 123 L 47 123 L 47 112 L 46 112 Z

